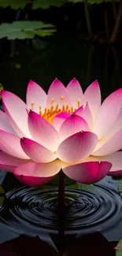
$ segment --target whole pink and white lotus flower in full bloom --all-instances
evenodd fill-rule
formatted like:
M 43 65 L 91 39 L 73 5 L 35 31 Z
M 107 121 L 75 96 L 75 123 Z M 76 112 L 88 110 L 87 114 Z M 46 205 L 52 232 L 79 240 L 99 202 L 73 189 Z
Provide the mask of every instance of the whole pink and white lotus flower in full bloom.
M 97 81 L 83 94 L 76 79 L 67 87 L 56 79 L 47 95 L 30 81 L 27 105 L 9 91 L 2 103 L 0 169 L 24 184 L 46 184 L 60 169 L 85 184 L 122 175 L 122 88 L 101 105 Z

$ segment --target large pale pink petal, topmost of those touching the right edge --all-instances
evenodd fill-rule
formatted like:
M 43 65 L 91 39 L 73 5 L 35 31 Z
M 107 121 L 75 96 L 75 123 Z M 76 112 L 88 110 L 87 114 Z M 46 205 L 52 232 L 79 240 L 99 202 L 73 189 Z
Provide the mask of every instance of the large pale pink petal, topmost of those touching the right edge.
M 98 112 L 97 120 L 94 124 L 93 132 L 98 135 L 98 139 L 102 139 L 113 127 L 120 115 L 122 108 L 122 88 L 114 91 L 105 98 Z

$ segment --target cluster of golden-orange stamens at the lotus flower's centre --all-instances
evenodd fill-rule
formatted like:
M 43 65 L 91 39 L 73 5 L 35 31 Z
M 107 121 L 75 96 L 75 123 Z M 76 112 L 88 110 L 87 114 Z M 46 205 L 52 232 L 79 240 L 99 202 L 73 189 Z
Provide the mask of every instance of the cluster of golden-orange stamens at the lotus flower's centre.
M 60 98 L 62 101 L 65 99 L 64 96 L 61 96 Z M 31 110 L 34 111 L 34 105 L 35 102 L 31 102 Z M 80 99 L 77 99 L 77 108 L 79 108 L 80 106 Z M 53 120 L 54 117 L 57 115 L 57 113 L 74 113 L 76 111 L 76 109 L 73 106 L 68 106 L 67 105 L 62 105 L 59 108 L 59 105 L 57 104 L 56 106 L 54 106 L 54 98 L 51 98 L 51 102 L 50 102 L 50 108 L 45 108 L 44 112 L 42 112 L 41 106 L 39 106 L 39 115 L 42 116 L 43 118 L 46 119 L 46 121 L 48 121 L 50 124 L 53 124 Z

